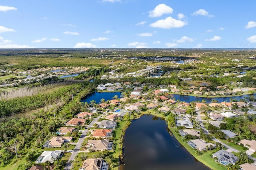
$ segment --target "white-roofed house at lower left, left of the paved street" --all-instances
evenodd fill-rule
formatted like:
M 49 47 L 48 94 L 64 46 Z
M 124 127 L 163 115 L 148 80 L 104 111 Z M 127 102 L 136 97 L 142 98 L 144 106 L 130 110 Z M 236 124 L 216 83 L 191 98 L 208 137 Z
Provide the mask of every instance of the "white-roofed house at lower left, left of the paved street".
M 53 160 L 56 160 L 57 158 L 60 158 L 62 156 L 63 152 L 60 151 L 44 151 L 37 159 L 36 164 L 42 164 L 46 162 L 47 160 L 50 162 L 54 162 Z

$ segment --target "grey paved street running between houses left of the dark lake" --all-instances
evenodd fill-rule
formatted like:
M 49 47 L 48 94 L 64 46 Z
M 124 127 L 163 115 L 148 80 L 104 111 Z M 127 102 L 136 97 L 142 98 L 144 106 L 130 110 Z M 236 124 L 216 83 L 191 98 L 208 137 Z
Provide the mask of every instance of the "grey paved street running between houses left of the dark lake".
M 87 128 L 92 127 L 92 125 L 94 125 L 94 123 L 95 123 L 96 121 L 98 121 L 98 120 L 100 119 L 100 117 L 102 117 L 102 116 L 103 116 L 103 114 L 101 114 L 99 117 L 95 118 L 95 119 L 87 126 Z M 81 148 L 81 146 L 82 146 L 82 143 L 84 142 L 84 139 L 85 139 L 85 137 L 86 137 L 87 131 L 88 131 L 87 129 L 85 129 L 85 130 L 83 131 L 83 133 L 82 133 L 82 135 L 80 136 L 78 142 L 76 143 L 75 149 L 71 151 L 72 154 L 71 154 L 70 158 L 68 159 L 68 162 L 67 162 L 67 164 L 66 164 L 64 170 L 71 170 L 72 165 L 71 165 L 70 161 L 71 161 L 71 160 L 75 160 L 75 156 L 78 154 L 78 152 L 79 152 L 79 150 L 80 150 L 80 148 Z

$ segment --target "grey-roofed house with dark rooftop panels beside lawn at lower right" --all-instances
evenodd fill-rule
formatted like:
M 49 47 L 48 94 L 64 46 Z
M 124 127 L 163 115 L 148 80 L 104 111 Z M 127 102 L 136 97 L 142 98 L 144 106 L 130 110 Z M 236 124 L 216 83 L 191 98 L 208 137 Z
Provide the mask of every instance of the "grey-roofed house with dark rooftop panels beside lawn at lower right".
M 212 157 L 218 158 L 218 162 L 220 162 L 221 164 L 223 164 L 224 166 L 228 165 L 228 164 L 235 164 L 238 161 L 238 157 L 235 156 L 234 154 L 222 149 L 219 150 L 218 152 L 215 152 L 214 154 L 212 154 Z

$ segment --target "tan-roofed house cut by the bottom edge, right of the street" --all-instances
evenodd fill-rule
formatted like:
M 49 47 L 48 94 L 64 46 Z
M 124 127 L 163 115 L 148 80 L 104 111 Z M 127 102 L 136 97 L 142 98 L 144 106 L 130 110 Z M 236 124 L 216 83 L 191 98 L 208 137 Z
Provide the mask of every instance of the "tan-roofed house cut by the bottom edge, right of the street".
M 108 170 L 108 163 L 102 158 L 88 158 L 79 170 Z

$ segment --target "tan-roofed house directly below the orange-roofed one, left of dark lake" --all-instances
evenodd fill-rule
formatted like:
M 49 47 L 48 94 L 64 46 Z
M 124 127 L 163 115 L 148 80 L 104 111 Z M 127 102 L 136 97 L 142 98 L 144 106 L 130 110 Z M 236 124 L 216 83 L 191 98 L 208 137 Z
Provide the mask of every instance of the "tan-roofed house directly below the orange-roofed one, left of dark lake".
M 108 139 L 104 140 L 88 140 L 88 146 L 93 150 L 103 151 L 112 150 L 113 142 Z

